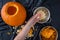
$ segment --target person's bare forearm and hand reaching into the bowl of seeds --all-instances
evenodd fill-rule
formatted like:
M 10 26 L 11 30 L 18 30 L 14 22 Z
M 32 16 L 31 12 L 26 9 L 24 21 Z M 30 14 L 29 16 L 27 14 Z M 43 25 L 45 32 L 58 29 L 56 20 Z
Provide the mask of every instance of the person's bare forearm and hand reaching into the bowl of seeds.
M 14 40 L 24 40 L 28 32 L 30 31 L 30 28 L 35 25 L 36 22 L 38 22 L 40 19 L 40 14 L 36 14 L 30 18 L 30 20 L 27 22 L 25 27 L 22 29 L 22 31 L 15 37 Z

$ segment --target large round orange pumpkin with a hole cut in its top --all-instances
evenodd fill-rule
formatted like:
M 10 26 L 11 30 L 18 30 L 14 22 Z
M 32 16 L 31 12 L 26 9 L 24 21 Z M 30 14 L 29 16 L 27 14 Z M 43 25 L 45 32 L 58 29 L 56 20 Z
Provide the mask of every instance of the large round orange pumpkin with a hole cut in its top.
M 6 24 L 19 26 L 26 19 L 26 10 L 20 3 L 8 2 L 1 9 L 1 17 Z

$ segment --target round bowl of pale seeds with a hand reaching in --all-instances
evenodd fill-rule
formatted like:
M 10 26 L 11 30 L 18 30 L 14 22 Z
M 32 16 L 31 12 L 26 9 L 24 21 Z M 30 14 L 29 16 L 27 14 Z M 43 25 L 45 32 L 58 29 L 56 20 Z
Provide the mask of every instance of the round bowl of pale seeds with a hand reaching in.
M 46 7 L 38 7 L 34 10 L 33 15 L 40 13 L 40 20 L 38 23 L 46 23 L 50 19 L 50 11 Z

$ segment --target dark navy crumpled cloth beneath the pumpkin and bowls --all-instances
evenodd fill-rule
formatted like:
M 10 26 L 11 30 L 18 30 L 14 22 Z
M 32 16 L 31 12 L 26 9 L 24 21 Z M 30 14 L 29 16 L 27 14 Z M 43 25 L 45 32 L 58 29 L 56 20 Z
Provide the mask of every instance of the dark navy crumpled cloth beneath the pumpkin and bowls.
M 12 0 L 0 0 L 0 10 L 2 6 L 6 3 Z M 42 27 L 51 25 L 58 31 L 58 40 L 60 40 L 60 0 L 15 0 L 16 2 L 21 3 L 27 10 L 27 19 L 32 16 L 34 9 L 44 6 L 50 10 L 51 13 L 51 22 L 50 23 L 44 23 L 39 24 L 37 23 L 35 27 L 37 27 L 38 31 L 36 31 L 33 38 L 29 38 L 27 40 L 40 40 L 39 37 L 39 31 Z M 10 35 L 7 33 L 11 32 Z M 0 17 L 0 40 L 13 40 L 13 38 L 16 36 L 13 34 L 14 29 L 10 27 L 9 25 L 5 24 Z

